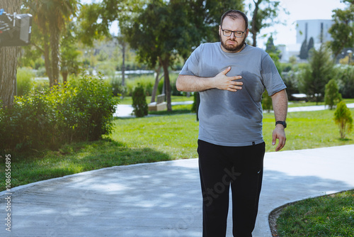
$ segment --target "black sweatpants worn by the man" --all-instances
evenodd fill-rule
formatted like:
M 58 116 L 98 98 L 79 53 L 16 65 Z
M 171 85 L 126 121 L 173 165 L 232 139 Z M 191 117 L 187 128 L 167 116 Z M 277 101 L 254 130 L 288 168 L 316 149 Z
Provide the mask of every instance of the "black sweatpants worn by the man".
M 233 234 L 252 236 L 261 192 L 264 153 L 265 143 L 229 147 L 198 140 L 203 237 L 226 236 L 230 184 Z

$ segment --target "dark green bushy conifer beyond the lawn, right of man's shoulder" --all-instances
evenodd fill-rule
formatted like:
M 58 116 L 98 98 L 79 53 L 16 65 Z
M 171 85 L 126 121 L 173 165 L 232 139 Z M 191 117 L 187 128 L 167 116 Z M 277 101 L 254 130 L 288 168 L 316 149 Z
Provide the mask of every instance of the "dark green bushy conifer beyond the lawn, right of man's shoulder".
M 316 103 L 324 97 L 326 84 L 333 75 L 333 60 L 331 52 L 321 45 L 319 50 L 312 50 L 309 67 L 302 73 L 301 91 L 314 98 Z

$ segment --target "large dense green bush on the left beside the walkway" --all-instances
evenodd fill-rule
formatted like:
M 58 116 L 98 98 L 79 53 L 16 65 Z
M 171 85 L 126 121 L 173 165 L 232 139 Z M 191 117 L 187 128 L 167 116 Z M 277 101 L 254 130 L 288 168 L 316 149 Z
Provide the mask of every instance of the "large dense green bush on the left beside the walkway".
M 101 78 L 86 75 L 46 92 L 16 97 L 13 108 L 1 111 L 0 150 L 55 149 L 98 140 L 111 133 L 117 103 Z

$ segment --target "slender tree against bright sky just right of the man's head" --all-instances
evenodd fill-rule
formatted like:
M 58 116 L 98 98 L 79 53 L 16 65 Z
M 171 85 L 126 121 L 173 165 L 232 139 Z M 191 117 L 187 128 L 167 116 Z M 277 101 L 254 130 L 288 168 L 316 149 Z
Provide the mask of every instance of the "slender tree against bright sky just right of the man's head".
M 253 46 L 256 47 L 257 34 L 262 28 L 279 23 L 279 21 L 274 21 L 274 18 L 278 16 L 279 11 L 285 11 L 285 9 L 280 7 L 280 1 L 272 0 L 253 0 L 253 4 L 249 4 L 249 9 L 253 9 L 250 31 L 252 33 Z

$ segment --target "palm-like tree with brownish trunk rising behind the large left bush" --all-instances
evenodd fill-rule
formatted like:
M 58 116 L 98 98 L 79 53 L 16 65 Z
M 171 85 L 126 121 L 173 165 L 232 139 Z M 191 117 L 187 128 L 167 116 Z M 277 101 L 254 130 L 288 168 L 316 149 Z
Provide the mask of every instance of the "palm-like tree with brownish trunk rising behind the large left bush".
M 33 43 L 45 57 L 45 70 L 50 87 L 59 83 L 60 38 L 71 17 L 75 15 L 79 0 L 26 0 L 25 6 L 33 14 L 33 21 L 42 35 L 41 45 Z

